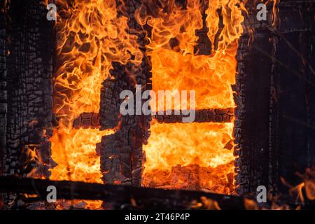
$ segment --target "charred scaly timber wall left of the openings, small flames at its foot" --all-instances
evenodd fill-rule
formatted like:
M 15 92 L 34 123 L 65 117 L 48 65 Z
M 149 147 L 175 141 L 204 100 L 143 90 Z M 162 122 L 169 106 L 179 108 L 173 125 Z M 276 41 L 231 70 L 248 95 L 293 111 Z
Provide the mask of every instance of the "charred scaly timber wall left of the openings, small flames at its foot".
M 5 175 L 50 176 L 54 35 L 46 13 L 43 2 L 34 0 L 11 1 L 8 10 Z M 25 167 L 31 155 L 34 160 Z

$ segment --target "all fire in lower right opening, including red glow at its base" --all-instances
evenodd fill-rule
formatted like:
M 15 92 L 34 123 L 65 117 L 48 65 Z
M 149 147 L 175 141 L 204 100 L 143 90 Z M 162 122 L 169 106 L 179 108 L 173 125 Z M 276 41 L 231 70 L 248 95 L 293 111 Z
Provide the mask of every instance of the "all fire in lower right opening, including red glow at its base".
M 152 125 L 142 183 L 231 194 L 235 158 L 225 145 L 232 128 L 232 123 Z

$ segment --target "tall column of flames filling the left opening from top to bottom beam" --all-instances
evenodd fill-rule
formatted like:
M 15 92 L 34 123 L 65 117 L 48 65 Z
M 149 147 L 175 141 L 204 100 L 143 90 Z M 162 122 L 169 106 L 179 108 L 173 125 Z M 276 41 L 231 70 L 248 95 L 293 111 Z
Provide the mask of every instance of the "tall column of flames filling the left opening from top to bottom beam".
M 51 179 L 102 183 L 95 148 L 113 130 L 72 129 L 81 113 L 99 112 L 102 82 L 111 62 L 139 64 L 142 52 L 137 36 L 129 34 L 127 18 L 118 16 L 114 0 L 57 0 L 57 71 L 54 113 L 58 126 L 52 138 L 57 167 Z

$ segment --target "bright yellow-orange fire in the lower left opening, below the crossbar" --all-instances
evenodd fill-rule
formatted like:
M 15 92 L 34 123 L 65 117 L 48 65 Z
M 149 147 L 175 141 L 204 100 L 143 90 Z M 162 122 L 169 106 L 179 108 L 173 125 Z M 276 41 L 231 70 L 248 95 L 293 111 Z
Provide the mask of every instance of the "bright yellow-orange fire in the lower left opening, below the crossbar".
M 102 183 L 99 155 L 95 152 L 95 144 L 106 134 L 111 134 L 111 131 L 55 130 L 50 140 L 52 157 L 58 166 L 52 169 L 51 179 Z

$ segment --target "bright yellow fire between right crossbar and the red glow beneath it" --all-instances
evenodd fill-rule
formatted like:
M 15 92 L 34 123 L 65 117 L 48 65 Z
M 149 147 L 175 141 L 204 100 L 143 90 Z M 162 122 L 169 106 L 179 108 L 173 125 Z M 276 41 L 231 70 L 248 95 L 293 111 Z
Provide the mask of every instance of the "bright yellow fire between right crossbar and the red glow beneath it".
M 146 159 L 155 162 L 146 163 L 145 171 L 168 169 L 176 165 L 197 164 L 215 168 L 228 164 L 234 160 L 234 156 L 226 153 L 224 147 L 232 139 L 232 129 L 232 123 L 155 123 L 151 127 L 154 135 L 146 146 Z

